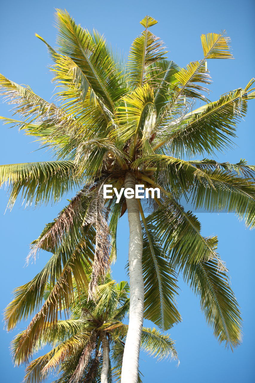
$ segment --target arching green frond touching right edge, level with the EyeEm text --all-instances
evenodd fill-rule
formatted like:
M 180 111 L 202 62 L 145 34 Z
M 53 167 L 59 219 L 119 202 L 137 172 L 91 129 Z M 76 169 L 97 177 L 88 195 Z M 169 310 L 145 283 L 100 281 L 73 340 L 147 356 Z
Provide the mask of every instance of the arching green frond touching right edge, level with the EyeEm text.
M 141 160 L 133 163 L 134 168 Z M 156 168 L 151 169 L 156 170 L 159 179 L 164 178 L 167 188 L 178 197 L 184 195 L 195 208 L 235 212 L 240 219 L 245 219 L 247 226 L 255 225 L 254 179 L 238 177 L 240 172 L 254 177 L 255 167 L 245 161 L 217 164 L 212 160 L 184 161 L 157 154 L 144 157 L 143 164 L 145 168 L 154 164 Z

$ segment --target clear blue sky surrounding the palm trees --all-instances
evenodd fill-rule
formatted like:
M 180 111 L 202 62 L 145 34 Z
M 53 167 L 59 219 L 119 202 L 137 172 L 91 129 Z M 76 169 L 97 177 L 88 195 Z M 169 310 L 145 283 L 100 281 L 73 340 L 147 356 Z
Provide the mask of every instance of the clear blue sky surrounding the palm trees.
M 208 62 L 208 69 L 214 80 L 211 100 L 217 99 L 229 90 L 245 87 L 255 76 L 255 25 L 254 4 L 252 1 L 237 0 L 171 2 L 158 1 L 56 1 L 41 2 L 7 1 L 2 4 L 0 16 L 0 72 L 9 79 L 29 84 L 34 92 L 50 100 L 53 94 L 51 74 L 47 69 L 50 60 L 45 46 L 34 33 L 38 33 L 54 46 L 54 8 L 65 8 L 74 16 L 77 23 L 89 29 L 96 28 L 104 33 L 113 47 L 118 46 L 128 52 L 132 39 L 141 31 L 139 21 L 149 14 L 159 21 L 153 27 L 168 46 L 168 57 L 183 66 L 200 59 L 202 49 L 200 35 L 226 29 L 232 39 L 235 60 Z M 238 129 L 239 139 L 233 151 L 219 157 L 222 161 L 238 162 L 245 158 L 255 164 L 254 121 L 255 104 L 249 104 L 248 115 L 241 121 Z M 0 115 L 11 116 L 10 106 L 0 103 Z M 16 129 L 1 126 L 0 164 L 48 160 L 49 154 L 35 151 L 38 146 L 31 138 L 18 133 Z M 49 255 L 40 254 L 36 264 L 24 268 L 29 243 L 38 237 L 44 224 L 51 222 L 61 206 L 42 206 L 37 210 L 24 210 L 18 202 L 15 208 L 5 213 L 7 196 L 0 191 L 0 241 L 1 294 L 0 308 L 5 308 L 11 299 L 11 291 L 33 278 L 46 263 Z M 225 350 L 214 339 L 212 330 L 206 326 L 199 308 L 198 299 L 186 285 L 180 283 L 181 291 L 178 307 L 183 322 L 171 330 L 176 341 L 180 366 L 175 362 L 159 362 L 141 354 L 143 382 L 154 381 L 184 383 L 218 383 L 255 381 L 254 371 L 254 234 L 244 228 L 234 214 L 199 213 L 203 223 L 203 234 L 218 234 L 219 253 L 230 270 L 232 288 L 239 301 L 244 319 L 244 341 L 232 353 Z M 118 232 L 118 261 L 113 267 L 113 277 L 126 279 L 124 266 L 127 262 L 127 221 L 121 219 Z M 180 276 L 181 280 L 181 276 Z M 147 323 L 146 323 L 147 325 Z M 22 329 L 20 325 L 18 330 Z M 1 378 L 2 381 L 18 383 L 23 378 L 23 368 L 13 368 L 9 343 L 17 331 L 7 334 L 0 330 L 1 336 Z M 50 380 L 51 381 L 51 380 Z

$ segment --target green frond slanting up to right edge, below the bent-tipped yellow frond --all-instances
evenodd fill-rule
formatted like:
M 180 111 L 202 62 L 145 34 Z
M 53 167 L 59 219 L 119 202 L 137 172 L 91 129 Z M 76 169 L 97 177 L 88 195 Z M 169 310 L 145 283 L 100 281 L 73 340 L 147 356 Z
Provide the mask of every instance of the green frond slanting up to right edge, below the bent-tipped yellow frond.
M 164 127 L 165 138 L 154 149 L 168 142 L 177 157 L 222 151 L 232 144 L 230 137 L 235 137 L 235 126 L 246 111 L 247 96 L 242 89 L 234 90 Z

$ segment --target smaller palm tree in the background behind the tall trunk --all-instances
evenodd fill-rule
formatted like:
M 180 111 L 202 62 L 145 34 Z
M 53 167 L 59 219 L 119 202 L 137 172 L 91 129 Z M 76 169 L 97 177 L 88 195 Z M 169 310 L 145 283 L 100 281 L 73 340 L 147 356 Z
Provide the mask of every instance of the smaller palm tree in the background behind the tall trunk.
M 44 295 L 47 299 L 51 288 Z M 88 290 L 78 295 L 69 319 L 59 320 L 56 326 L 44 326 L 33 354 L 50 345 L 51 350 L 27 362 L 25 383 L 39 383 L 55 372 L 55 383 L 85 382 L 110 383 L 120 381 L 121 362 L 128 326 L 123 323 L 129 309 L 129 286 L 117 284 L 106 277 L 105 283 L 96 288 L 95 300 L 88 300 Z M 12 342 L 15 363 L 24 361 L 20 348 L 24 331 Z M 156 329 L 143 328 L 142 348 L 150 355 L 177 359 L 174 342 Z M 113 362 L 111 368 L 110 360 Z M 139 376 L 139 381 L 141 378 Z

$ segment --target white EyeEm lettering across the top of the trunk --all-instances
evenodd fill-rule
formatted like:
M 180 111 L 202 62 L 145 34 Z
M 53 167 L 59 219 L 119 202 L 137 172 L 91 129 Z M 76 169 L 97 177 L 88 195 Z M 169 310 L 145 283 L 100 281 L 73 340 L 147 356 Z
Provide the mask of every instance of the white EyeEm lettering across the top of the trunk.
M 132 188 L 121 188 L 119 191 L 118 189 L 113 188 L 113 185 L 103 185 L 103 198 L 113 198 L 113 194 L 115 193 L 117 197 L 116 203 L 119 203 L 121 196 L 123 195 L 123 191 L 126 198 L 149 198 L 149 194 L 151 198 L 155 198 L 155 193 L 157 193 L 157 198 L 160 198 L 159 188 L 144 189 L 144 185 L 136 185 L 135 190 Z

